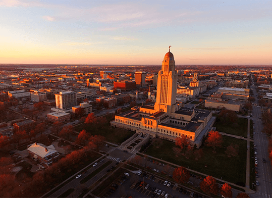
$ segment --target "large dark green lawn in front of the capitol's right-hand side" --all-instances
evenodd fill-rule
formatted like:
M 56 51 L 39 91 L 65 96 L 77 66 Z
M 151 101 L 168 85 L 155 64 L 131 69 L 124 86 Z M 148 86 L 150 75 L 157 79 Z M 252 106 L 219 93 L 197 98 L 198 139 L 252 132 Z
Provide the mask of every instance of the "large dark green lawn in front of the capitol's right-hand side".
M 222 177 L 222 179 L 238 185 L 244 185 L 246 179 L 246 141 L 229 136 L 223 137 L 223 147 L 217 148 L 216 153 L 212 152 L 211 147 L 202 146 L 203 156 L 198 161 L 195 160 L 193 156 L 189 159 L 186 159 L 185 156 L 182 155 L 178 158 L 175 157 L 172 150 L 172 147 L 175 144 L 166 140 L 163 140 L 164 143 L 158 149 L 151 145 L 144 154 L 172 162 L 216 178 Z M 231 143 L 239 145 L 239 156 L 229 158 L 225 154 L 226 149 L 224 149 L 224 147 L 227 147 Z

